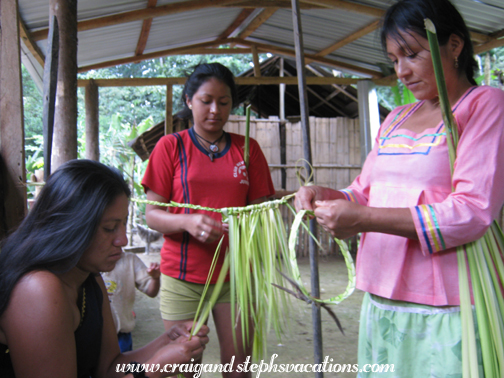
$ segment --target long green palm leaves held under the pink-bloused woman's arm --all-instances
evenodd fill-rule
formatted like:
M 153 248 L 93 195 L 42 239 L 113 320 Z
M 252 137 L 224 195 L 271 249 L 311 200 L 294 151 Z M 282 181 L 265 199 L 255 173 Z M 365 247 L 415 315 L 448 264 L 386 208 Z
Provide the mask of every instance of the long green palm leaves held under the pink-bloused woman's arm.
M 459 140 L 458 128 L 448 101 L 436 29 L 429 19 L 425 20 L 425 28 L 431 49 L 453 173 Z M 481 341 L 484 376 L 504 377 L 504 299 L 502 297 L 504 263 L 502 251 L 504 251 L 504 235 L 496 221 L 492 223 L 483 237 L 457 247 L 464 378 L 480 377 L 468 271 L 472 283 L 476 324 Z

